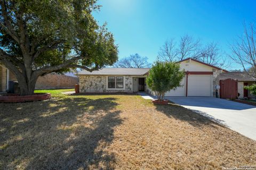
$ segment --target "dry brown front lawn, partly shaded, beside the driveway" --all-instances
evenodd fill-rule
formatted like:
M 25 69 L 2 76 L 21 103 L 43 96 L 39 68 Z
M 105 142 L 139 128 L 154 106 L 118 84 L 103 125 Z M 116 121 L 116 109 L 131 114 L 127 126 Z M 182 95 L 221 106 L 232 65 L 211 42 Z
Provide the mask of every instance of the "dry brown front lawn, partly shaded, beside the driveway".
M 221 169 L 256 142 L 175 104 L 134 95 L 0 104 L 0 169 Z

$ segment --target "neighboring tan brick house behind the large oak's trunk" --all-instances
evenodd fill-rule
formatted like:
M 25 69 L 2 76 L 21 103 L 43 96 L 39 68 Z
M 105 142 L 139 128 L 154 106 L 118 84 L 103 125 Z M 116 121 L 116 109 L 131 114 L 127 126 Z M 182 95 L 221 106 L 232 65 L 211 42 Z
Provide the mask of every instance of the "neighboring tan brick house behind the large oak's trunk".
M 9 81 L 17 81 L 17 79 L 9 69 L 0 65 L 0 92 L 9 90 Z M 77 77 L 51 73 L 37 79 L 36 89 L 74 88 L 78 81 Z

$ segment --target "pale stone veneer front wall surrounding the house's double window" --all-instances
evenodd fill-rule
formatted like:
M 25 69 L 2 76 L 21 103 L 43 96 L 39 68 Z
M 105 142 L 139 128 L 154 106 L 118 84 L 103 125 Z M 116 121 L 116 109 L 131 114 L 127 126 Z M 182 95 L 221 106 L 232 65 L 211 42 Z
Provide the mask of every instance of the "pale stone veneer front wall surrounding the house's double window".
M 100 92 L 132 92 L 132 77 L 124 77 L 125 90 L 107 90 L 107 76 L 103 75 L 78 75 L 79 92 L 100 93 Z

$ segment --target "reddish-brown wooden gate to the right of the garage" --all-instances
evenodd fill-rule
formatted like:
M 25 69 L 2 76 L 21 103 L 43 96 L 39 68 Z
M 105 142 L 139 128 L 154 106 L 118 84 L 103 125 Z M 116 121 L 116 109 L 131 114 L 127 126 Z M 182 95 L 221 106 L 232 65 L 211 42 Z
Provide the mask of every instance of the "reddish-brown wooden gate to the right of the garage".
M 234 79 L 220 80 L 220 98 L 236 99 L 238 95 L 238 81 Z

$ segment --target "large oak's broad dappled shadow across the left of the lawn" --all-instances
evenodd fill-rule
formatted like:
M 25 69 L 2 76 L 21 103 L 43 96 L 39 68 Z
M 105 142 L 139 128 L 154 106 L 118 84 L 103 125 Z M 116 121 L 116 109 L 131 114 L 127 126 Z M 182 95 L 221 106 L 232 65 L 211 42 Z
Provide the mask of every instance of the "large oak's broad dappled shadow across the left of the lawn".
M 115 100 L 0 104 L 0 146 L 7 143 L 0 149 L 0 169 L 20 164 L 26 169 L 113 168 L 115 156 L 104 148 L 114 138 L 113 128 L 122 123 Z

